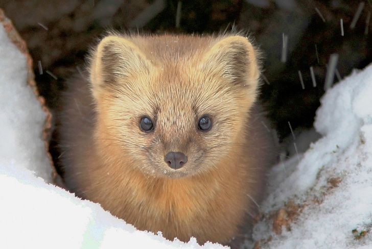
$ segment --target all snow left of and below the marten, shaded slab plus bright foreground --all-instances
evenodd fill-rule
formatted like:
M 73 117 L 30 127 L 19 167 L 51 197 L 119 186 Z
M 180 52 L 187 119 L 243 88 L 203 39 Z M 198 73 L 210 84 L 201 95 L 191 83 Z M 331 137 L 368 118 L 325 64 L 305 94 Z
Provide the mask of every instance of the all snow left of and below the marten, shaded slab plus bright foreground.
M 199 248 L 193 238 L 171 242 L 137 231 L 98 204 L 48 184 L 45 113 L 26 83 L 26 57 L 2 25 L 0 44 L 0 248 Z

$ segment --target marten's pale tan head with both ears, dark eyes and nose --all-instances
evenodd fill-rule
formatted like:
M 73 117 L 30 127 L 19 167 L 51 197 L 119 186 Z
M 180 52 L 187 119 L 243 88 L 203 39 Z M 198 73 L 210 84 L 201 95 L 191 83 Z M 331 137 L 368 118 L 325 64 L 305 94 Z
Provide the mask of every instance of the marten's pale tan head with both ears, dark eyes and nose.
M 107 36 L 90 65 L 97 139 L 118 164 L 154 177 L 228 163 L 244 146 L 259 74 L 257 52 L 239 35 Z

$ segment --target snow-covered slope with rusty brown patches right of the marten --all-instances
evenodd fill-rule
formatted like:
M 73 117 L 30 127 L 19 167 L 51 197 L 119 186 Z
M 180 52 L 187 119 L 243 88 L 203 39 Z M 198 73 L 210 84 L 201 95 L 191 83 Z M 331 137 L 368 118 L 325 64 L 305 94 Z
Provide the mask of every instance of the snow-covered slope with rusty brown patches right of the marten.
M 322 97 L 314 126 L 323 137 L 299 163 L 294 157 L 273 168 L 262 205 L 265 217 L 290 200 L 304 209 L 281 235 L 272 232 L 272 220 L 259 222 L 254 240 L 271 237 L 261 248 L 372 248 L 371 96 L 372 64 Z

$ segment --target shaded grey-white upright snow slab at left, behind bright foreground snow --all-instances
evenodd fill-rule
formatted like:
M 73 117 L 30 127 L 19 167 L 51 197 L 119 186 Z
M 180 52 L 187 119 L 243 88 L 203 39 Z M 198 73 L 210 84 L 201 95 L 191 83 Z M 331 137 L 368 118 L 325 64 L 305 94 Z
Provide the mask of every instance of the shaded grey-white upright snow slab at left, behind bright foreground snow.
M 0 25 L 0 172 L 25 167 L 51 182 L 41 136 L 46 114 L 27 85 L 26 66 L 26 57 Z

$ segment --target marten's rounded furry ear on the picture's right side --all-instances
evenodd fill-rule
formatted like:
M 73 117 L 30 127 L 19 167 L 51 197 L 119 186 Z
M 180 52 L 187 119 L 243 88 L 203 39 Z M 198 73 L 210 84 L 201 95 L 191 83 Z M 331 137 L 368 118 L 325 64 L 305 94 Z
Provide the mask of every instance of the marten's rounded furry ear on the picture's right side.
M 257 52 L 247 38 L 230 36 L 215 43 L 204 56 L 205 70 L 222 74 L 255 94 L 260 77 Z

